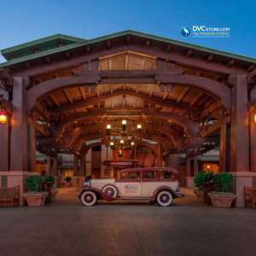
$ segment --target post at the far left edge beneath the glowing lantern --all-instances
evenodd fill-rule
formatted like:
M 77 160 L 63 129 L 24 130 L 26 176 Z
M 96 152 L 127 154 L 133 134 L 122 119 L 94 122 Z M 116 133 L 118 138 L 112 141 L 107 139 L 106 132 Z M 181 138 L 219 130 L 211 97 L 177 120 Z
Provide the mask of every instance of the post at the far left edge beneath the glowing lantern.
M 0 172 L 9 171 L 9 116 L 7 123 L 0 124 Z

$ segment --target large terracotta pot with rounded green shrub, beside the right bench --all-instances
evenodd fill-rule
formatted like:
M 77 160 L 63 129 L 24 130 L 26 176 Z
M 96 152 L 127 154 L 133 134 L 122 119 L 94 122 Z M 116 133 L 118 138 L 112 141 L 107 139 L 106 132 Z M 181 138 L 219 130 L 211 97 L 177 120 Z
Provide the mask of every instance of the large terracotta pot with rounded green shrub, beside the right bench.
M 213 177 L 214 188 L 216 191 L 208 193 L 213 207 L 230 208 L 236 195 L 231 192 L 232 174 L 217 173 Z

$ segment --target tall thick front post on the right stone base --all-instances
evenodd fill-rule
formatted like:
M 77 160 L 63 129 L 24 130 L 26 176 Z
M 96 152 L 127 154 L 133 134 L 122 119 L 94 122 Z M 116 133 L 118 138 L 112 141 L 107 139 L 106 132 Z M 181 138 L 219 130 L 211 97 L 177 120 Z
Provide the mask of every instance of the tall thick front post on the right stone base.
M 247 76 L 236 76 L 232 91 L 230 171 L 249 172 Z

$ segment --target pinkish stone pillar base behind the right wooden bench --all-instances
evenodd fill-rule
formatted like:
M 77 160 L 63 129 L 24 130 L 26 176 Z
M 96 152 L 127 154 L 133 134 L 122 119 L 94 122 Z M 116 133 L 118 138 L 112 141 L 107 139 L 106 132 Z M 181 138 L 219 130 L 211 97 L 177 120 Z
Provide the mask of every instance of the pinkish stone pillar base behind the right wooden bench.
M 236 194 L 236 200 L 232 207 L 244 208 L 244 187 L 253 188 L 253 177 L 256 172 L 229 172 L 233 175 L 232 192 Z

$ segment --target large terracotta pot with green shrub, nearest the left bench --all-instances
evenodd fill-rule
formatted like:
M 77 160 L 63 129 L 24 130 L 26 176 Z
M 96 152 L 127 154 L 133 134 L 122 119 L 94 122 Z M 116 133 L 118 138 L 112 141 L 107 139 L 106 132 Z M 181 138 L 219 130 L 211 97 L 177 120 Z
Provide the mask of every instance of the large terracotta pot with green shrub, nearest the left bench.
M 29 207 L 44 206 L 45 199 L 49 193 L 41 191 L 42 182 L 42 177 L 39 175 L 26 177 L 26 183 L 29 191 L 24 193 L 23 196 L 25 197 L 26 203 Z

